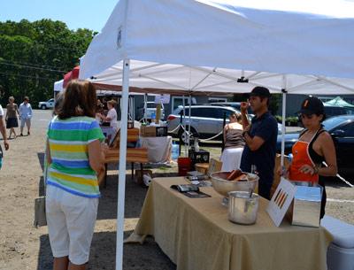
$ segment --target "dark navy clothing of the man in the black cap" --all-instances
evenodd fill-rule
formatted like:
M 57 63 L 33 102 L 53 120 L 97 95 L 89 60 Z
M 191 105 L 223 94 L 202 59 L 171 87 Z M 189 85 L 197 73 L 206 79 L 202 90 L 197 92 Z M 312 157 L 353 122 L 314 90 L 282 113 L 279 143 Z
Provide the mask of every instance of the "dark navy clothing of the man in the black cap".
M 270 112 L 251 120 L 250 137 L 258 136 L 265 140 L 258 150 L 251 151 L 248 145 L 244 146 L 241 158 L 241 169 L 250 172 L 250 166 L 257 166 L 259 184 L 258 191 L 262 197 L 269 198 L 273 183 L 275 163 L 275 149 L 278 135 L 278 123 Z

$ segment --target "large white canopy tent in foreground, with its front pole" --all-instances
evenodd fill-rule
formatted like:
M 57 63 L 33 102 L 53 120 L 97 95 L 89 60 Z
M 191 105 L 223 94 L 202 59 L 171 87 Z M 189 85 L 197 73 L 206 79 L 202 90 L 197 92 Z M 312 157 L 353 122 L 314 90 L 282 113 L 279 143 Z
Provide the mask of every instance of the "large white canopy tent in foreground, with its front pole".
M 354 93 L 354 3 L 120 0 L 81 59 L 81 79 L 161 92 Z M 167 89 L 167 90 L 165 90 Z M 283 120 L 285 117 L 283 117 Z M 284 127 L 284 125 L 283 125 Z M 122 267 L 127 123 L 119 151 L 116 269 Z

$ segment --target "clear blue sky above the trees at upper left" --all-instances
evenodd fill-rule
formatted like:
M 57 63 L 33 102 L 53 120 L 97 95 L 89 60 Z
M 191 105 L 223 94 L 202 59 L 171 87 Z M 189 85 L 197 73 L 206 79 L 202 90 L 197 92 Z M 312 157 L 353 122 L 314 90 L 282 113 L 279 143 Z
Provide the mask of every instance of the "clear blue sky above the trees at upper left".
M 118 0 L 0 0 L 0 21 L 61 20 L 70 29 L 100 32 Z

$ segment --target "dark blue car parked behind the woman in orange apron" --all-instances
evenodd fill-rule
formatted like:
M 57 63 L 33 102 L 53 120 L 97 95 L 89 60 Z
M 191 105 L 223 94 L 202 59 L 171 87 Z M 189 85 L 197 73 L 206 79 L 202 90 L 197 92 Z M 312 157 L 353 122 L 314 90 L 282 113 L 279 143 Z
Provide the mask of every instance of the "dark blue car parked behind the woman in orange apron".
M 323 121 L 324 128 L 335 142 L 338 169 L 340 173 L 354 174 L 354 115 L 340 115 Z M 291 152 L 300 132 L 285 134 L 285 154 Z M 281 135 L 278 135 L 277 151 L 281 152 Z

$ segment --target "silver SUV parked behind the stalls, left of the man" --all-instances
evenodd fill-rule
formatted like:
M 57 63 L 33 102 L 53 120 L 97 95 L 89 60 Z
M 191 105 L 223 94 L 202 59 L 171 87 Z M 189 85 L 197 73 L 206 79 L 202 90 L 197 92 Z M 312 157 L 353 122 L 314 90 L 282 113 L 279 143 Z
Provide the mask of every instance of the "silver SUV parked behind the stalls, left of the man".
M 183 118 L 183 126 L 189 130 L 192 136 L 199 138 L 210 138 L 218 135 L 223 130 L 224 114 L 227 122 L 230 114 L 239 112 L 232 107 L 227 106 L 208 106 L 208 105 L 193 105 L 191 106 L 190 121 L 189 121 L 189 107 L 185 108 L 185 118 Z M 181 115 L 183 115 L 183 107 L 179 106 L 167 117 L 168 133 L 181 138 L 183 142 L 187 141 L 187 133 L 181 128 L 176 128 L 181 122 Z M 221 140 L 222 135 L 214 138 L 214 140 Z

